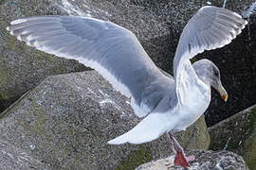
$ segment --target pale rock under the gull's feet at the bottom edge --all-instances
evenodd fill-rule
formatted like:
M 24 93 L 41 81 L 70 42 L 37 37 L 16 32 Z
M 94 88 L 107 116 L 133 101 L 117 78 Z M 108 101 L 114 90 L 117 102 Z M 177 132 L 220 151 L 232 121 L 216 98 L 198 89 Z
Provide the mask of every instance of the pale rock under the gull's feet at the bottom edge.
M 201 151 L 189 152 L 195 156 L 191 162 L 190 170 L 248 170 L 246 162 L 241 156 L 228 151 Z M 151 161 L 137 167 L 136 170 L 183 170 L 184 168 L 174 165 L 174 156 L 157 161 Z

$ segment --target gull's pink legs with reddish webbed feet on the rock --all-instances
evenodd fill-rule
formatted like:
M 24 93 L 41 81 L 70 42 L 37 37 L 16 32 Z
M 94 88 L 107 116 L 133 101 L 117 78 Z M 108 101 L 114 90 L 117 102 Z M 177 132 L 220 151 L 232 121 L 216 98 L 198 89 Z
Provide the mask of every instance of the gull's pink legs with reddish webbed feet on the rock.
M 172 150 L 175 149 L 175 159 L 174 159 L 174 164 L 175 165 L 181 165 L 183 167 L 190 167 L 190 161 L 194 161 L 194 156 L 190 156 L 190 157 L 185 157 L 184 154 L 184 150 L 182 148 L 182 146 L 180 144 L 178 144 L 178 142 L 176 141 L 176 139 L 174 138 L 174 134 L 172 132 L 169 132 L 169 136 L 171 139 L 170 145 L 173 144 L 173 148 L 171 145 Z M 174 152 L 174 153 L 175 153 Z

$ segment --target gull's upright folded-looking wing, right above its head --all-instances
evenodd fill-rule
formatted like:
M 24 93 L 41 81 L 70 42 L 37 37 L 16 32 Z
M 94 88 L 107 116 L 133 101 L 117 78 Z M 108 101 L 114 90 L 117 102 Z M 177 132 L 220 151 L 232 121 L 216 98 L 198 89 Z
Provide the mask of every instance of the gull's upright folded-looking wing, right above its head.
M 181 104 L 185 103 L 188 84 L 200 83 L 190 59 L 204 50 L 223 47 L 247 25 L 247 21 L 226 8 L 200 8 L 185 26 L 174 57 L 175 91 Z

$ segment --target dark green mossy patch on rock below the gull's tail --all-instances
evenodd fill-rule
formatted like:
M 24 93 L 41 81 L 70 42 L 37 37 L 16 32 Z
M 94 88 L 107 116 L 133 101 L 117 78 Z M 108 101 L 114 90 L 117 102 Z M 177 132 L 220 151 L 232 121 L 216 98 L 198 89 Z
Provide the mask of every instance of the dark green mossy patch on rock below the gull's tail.
M 135 169 L 140 164 L 151 160 L 150 148 L 140 145 L 138 150 L 131 152 L 127 159 L 120 162 L 117 170 Z

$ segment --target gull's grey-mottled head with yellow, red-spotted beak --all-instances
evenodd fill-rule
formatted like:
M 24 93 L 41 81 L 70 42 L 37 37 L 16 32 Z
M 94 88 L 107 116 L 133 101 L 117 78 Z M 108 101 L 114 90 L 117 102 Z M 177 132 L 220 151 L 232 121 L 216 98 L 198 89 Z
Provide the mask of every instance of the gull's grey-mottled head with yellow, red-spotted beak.
M 228 93 L 221 83 L 218 67 L 209 59 L 200 59 L 192 64 L 196 75 L 206 84 L 218 91 L 225 102 L 228 100 Z

